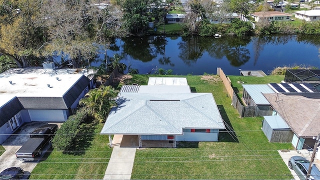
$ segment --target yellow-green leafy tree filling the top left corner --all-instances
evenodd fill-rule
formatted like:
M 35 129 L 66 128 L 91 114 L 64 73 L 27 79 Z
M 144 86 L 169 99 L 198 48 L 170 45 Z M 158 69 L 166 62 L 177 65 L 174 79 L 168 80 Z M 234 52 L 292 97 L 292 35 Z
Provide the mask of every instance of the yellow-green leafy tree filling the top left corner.
M 0 0 L 0 53 L 18 67 L 38 65 L 38 48 L 46 39 L 45 31 L 35 25 L 41 0 Z

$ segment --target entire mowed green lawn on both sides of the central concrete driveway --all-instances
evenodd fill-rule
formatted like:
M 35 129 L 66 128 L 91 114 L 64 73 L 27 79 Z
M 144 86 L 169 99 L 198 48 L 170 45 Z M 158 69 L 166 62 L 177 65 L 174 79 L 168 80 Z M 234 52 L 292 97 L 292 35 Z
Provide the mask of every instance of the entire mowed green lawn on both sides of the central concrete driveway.
M 149 76 L 133 75 L 125 84 L 147 84 Z M 166 75 L 173 76 L 173 75 Z M 140 148 L 134 159 L 133 179 L 291 179 L 292 175 L 277 150 L 291 149 L 290 143 L 269 143 L 261 130 L 262 117 L 238 117 L 224 85 L 216 75 L 186 77 L 192 91 L 212 92 L 222 118 L 234 129 L 219 133 L 218 142 L 179 143 L 179 148 Z M 269 79 L 272 77 L 271 79 Z M 235 83 L 279 82 L 283 76 L 230 76 Z M 274 79 L 273 79 L 274 78 Z M 271 81 L 270 81 L 271 80 Z M 121 87 L 121 83 L 117 88 Z M 237 89 L 238 84 L 233 86 Z M 99 135 L 103 124 L 92 130 L 86 147 L 78 154 L 53 150 L 31 172 L 30 179 L 101 179 L 111 148 L 108 137 Z M 91 139 L 91 140 L 90 140 Z

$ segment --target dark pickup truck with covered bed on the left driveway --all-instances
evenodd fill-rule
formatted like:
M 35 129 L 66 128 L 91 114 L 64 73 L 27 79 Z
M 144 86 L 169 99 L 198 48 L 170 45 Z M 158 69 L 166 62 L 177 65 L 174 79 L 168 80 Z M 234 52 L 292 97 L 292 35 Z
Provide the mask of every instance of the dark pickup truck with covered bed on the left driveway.
M 56 124 L 44 124 L 34 129 L 30 138 L 15 152 L 17 160 L 34 160 L 36 155 L 41 155 L 42 148 L 49 142 L 57 130 Z

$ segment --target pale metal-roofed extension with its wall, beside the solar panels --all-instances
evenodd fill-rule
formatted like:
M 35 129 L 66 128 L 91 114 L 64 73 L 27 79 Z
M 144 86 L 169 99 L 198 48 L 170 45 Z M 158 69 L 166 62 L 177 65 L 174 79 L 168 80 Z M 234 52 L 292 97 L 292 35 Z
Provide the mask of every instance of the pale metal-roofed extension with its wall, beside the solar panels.
M 242 99 L 247 106 L 270 105 L 262 93 L 274 93 L 267 84 L 242 84 Z

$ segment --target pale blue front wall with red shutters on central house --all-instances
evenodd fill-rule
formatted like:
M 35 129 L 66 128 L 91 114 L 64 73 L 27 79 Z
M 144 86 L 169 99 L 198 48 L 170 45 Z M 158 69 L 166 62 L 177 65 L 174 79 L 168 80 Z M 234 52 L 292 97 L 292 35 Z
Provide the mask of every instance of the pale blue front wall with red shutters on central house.
M 187 129 L 185 129 L 187 130 Z M 184 131 L 183 135 L 176 135 L 176 141 L 217 141 L 218 129 L 210 129 L 210 132 L 187 132 Z

